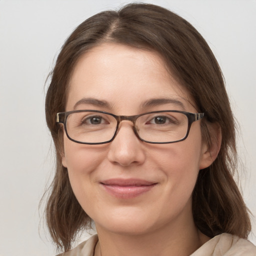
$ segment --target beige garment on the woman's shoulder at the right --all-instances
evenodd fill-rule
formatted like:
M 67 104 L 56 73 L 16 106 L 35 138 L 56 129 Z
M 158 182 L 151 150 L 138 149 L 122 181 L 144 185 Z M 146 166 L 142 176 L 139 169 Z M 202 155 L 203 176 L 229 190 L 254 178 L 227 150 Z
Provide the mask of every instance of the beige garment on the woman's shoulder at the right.
M 191 256 L 256 256 L 256 246 L 236 235 L 222 233 L 204 243 Z

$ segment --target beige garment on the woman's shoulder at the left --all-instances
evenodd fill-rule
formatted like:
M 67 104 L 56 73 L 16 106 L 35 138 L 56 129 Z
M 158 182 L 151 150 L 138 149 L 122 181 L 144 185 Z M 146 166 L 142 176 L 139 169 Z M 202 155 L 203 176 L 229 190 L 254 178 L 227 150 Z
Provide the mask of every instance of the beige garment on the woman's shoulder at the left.
M 93 256 L 97 241 L 98 236 L 94 234 L 88 240 L 83 241 L 73 249 L 62 252 L 56 256 Z

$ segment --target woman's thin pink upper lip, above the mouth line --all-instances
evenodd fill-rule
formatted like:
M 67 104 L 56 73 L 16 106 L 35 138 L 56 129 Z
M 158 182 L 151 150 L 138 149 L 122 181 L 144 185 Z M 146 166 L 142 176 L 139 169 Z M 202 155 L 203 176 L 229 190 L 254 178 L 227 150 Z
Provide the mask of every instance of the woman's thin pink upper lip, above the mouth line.
M 100 181 L 100 183 L 104 185 L 118 185 L 118 186 L 140 186 L 140 185 L 152 185 L 156 184 L 157 182 L 154 181 L 148 181 L 144 179 L 138 179 L 138 178 L 111 178 Z

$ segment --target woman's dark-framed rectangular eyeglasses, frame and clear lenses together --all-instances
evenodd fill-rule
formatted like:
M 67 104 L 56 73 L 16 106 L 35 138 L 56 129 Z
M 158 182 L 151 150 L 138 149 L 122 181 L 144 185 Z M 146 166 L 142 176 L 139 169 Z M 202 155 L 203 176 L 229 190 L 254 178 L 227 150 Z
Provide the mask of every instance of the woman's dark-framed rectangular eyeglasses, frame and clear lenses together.
M 131 121 L 136 136 L 147 143 L 173 143 L 184 140 L 192 122 L 204 113 L 178 110 L 152 111 L 137 115 L 115 115 L 99 110 L 74 110 L 57 113 L 66 136 L 77 143 L 103 144 L 116 136 L 121 121 Z

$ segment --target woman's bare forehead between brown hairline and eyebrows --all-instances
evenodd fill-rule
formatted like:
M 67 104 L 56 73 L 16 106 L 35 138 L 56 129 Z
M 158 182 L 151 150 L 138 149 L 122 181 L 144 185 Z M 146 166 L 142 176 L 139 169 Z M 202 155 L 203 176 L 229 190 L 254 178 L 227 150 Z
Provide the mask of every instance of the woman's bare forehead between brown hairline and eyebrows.
M 92 98 L 107 102 L 108 108 L 116 111 L 137 113 L 141 104 L 150 99 L 178 99 L 186 106 L 191 102 L 188 94 L 157 52 L 103 43 L 77 61 L 69 82 L 66 110 L 73 110 L 83 98 Z

